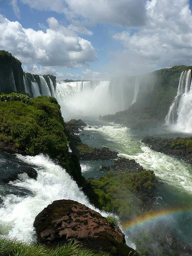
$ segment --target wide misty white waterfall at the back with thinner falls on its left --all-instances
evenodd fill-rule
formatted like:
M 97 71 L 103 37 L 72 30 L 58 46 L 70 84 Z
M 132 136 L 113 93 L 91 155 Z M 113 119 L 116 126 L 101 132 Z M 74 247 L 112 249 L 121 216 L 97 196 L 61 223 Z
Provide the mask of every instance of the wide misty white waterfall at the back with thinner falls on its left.
M 72 81 L 53 82 L 49 75 L 24 75 L 25 92 L 30 96 L 53 96 L 61 106 L 65 120 L 76 116 L 114 114 L 136 102 L 140 78 L 130 81 Z M 134 86 L 136 85 L 136 89 Z

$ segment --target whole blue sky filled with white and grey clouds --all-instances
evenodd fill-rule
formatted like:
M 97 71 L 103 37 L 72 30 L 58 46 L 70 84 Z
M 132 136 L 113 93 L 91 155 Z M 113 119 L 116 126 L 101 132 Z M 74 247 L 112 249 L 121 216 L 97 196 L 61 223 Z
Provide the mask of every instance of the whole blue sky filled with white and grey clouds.
M 0 50 L 57 80 L 192 66 L 191 8 L 189 0 L 0 0 Z

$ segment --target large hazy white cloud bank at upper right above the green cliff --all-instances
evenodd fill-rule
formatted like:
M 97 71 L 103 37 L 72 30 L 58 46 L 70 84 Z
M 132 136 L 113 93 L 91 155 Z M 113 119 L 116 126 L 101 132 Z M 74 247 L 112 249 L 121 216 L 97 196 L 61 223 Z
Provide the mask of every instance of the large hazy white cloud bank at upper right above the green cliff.
M 134 34 L 114 34 L 124 46 L 115 53 L 118 74 L 150 72 L 158 68 L 192 64 L 192 16 L 188 0 L 146 2 L 147 24 Z M 111 63 L 114 66 L 114 63 Z

